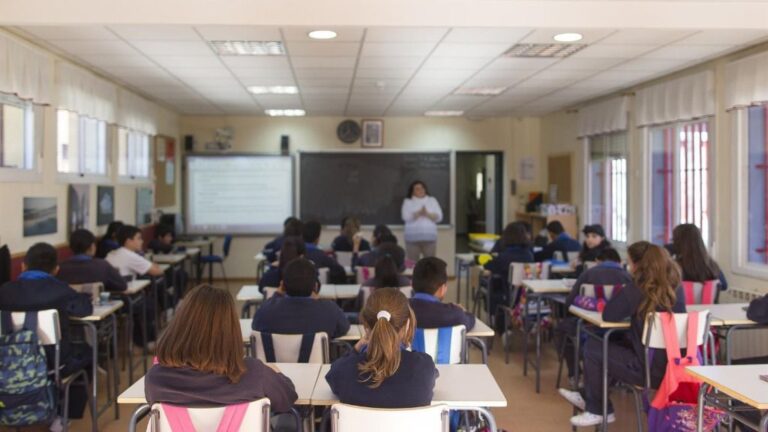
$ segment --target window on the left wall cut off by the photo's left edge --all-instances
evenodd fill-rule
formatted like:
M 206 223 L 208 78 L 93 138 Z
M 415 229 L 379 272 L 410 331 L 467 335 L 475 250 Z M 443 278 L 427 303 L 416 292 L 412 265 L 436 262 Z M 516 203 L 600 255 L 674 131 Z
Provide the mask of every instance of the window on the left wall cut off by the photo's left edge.
M 0 168 L 34 168 L 34 132 L 32 103 L 0 95 Z

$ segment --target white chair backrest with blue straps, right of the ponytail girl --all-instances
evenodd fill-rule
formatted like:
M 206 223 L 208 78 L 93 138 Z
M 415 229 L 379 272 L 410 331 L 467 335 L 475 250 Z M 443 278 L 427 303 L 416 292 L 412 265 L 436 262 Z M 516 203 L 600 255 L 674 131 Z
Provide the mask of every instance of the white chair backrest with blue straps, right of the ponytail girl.
M 435 364 L 464 362 L 467 328 L 462 325 L 441 328 L 417 328 L 411 349 L 429 354 Z

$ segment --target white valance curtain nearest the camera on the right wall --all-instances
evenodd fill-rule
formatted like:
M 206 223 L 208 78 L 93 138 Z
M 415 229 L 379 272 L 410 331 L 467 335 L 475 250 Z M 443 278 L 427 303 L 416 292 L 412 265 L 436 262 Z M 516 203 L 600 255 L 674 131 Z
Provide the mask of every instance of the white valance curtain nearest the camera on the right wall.
M 727 109 L 768 102 L 768 52 L 726 65 L 725 102 Z

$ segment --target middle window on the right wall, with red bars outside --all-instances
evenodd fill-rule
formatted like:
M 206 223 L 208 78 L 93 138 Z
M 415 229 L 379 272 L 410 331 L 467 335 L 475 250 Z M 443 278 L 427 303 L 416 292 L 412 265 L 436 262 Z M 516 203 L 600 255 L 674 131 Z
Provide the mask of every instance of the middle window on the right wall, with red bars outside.
M 710 243 L 709 121 L 651 129 L 651 241 L 670 243 L 672 229 L 692 223 Z

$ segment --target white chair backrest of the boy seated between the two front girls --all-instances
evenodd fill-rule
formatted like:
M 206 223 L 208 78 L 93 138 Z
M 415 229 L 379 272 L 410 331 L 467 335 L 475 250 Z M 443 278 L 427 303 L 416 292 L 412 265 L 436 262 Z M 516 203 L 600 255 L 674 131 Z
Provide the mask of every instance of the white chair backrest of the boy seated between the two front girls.
M 307 339 L 301 334 L 262 334 L 254 331 L 251 333 L 251 352 L 263 362 L 274 361 L 276 363 L 301 363 L 302 345 L 312 343 L 307 361 L 304 363 L 328 363 L 328 334 L 325 332 L 308 335 Z M 271 342 L 271 345 L 270 345 Z M 306 345 L 305 345 L 306 348 Z M 269 351 L 274 353 L 274 359 Z

